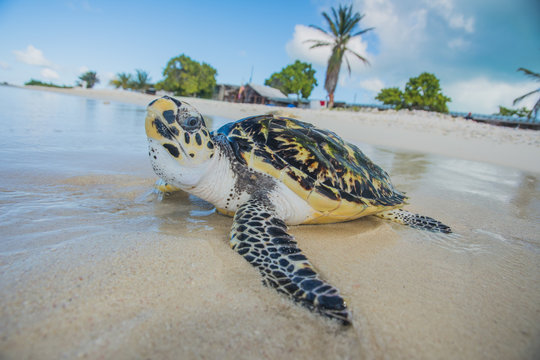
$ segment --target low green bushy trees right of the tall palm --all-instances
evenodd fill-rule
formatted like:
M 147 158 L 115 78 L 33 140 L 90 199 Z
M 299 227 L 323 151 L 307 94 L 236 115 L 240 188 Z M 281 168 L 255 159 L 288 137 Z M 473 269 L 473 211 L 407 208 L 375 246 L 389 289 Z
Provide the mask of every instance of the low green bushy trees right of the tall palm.
M 405 91 L 398 88 L 382 89 L 375 99 L 385 105 L 395 106 L 396 109 L 416 109 L 437 112 L 448 112 L 447 102 L 452 101 L 443 95 L 439 79 L 433 74 L 422 73 L 410 78 L 405 85 Z

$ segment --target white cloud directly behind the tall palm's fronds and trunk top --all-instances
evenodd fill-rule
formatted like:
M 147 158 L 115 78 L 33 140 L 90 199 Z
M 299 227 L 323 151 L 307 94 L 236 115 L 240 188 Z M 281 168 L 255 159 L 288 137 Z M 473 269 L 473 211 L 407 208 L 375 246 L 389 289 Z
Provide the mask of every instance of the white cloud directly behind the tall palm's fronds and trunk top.
M 308 61 L 315 65 L 326 67 L 328 58 L 331 53 L 331 46 L 320 46 L 311 49 L 313 42 L 307 40 L 332 41 L 332 37 L 322 33 L 321 31 L 305 25 L 296 25 L 294 27 L 293 38 L 287 43 L 285 49 L 291 59 L 300 59 Z M 348 43 L 348 48 L 358 53 L 359 55 L 370 60 L 371 55 L 367 52 L 367 43 L 361 37 L 353 38 Z M 354 55 L 346 55 L 351 64 L 351 71 L 360 72 L 365 65 Z M 346 62 L 343 63 L 342 69 L 347 68 Z

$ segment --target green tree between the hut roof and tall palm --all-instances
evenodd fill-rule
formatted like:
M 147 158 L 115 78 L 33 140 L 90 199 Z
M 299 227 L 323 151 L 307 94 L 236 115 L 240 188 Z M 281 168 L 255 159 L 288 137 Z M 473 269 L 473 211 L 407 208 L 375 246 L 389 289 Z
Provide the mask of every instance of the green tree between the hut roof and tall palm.
M 302 94 L 302 97 L 307 99 L 317 86 L 317 80 L 311 64 L 296 60 L 294 64 L 287 65 L 280 72 L 273 73 L 264 84 L 275 87 L 285 94 L 296 94 L 298 99 Z

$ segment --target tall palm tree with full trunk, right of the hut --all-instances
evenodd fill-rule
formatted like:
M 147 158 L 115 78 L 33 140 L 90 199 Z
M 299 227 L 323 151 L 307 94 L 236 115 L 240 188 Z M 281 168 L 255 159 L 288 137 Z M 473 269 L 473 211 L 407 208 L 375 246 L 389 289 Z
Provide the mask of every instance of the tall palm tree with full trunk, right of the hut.
M 328 59 L 328 66 L 326 68 L 326 80 L 324 81 L 324 88 L 328 92 L 329 102 L 328 107 L 332 108 L 334 106 L 334 92 L 336 90 L 337 81 L 339 78 L 339 71 L 341 69 L 341 63 L 343 62 L 343 56 L 347 53 L 350 53 L 356 56 L 358 59 L 362 60 L 365 64 L 369 64 L 368 60 L 357 52 L 351 50 L 347 47 L 349 40 L 355 36 L 365 34 L 366 32 L 373 30 L 373 28 L 368 28 L 364 30 L 356 31 L 358 23 L 364 15 L 360 15 L 358 12 L 353 13 L 352 5 L 350 6 L 339 6 L 336 11 L 332 7 L 332 18 L 326 13 L 323 12 L 322 16 L 328 23 L 330 31 L 325 31 L 322 28 L 310 25 L 312 28 L 321 31 L 322 33 L 330 36 L 332 40 L 307 40 L 307 42 L 314 43 L 310 49 L 321 47 L 321 46 L 331 46 L 332 54 Z M 349 76 L 351 75 L 351 64 L 349 59 L 345 56 L 345 61 L 347 63 L 347 69 L 349 70 Z

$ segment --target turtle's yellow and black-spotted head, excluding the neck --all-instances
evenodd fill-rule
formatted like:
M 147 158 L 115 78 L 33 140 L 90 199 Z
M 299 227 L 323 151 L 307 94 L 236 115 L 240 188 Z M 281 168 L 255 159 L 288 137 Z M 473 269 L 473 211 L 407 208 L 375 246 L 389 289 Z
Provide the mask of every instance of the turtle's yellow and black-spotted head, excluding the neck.
M 214 156 L 214 142 L 202 115 L 169 96 L 147 108 L 149 155 L 158 176 L 173 185 L 194 186 Z

